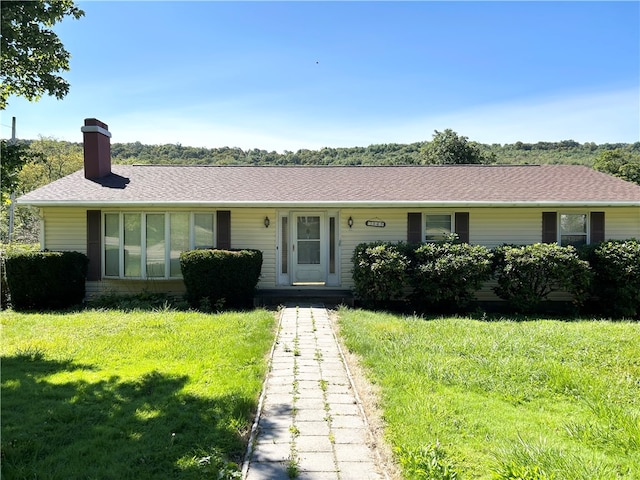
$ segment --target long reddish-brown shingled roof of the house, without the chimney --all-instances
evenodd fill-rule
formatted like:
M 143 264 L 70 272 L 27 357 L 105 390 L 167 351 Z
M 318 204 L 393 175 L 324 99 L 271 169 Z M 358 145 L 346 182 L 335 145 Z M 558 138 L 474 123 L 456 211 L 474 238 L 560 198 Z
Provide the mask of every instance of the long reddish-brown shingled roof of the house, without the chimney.
M 113 165 L 34 190 L 23 205 L 640 207 L 640 186 L 577 165 Z

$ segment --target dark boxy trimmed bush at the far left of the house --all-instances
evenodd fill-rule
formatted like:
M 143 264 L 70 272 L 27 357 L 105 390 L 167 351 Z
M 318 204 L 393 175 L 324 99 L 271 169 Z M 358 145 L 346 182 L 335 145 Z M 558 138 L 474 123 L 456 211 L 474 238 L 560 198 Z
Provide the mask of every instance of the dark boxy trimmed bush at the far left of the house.
M 10 251 L 6 275 L 16 310 L 50 310 L 82 303 L 89 259 L 79 252 Z

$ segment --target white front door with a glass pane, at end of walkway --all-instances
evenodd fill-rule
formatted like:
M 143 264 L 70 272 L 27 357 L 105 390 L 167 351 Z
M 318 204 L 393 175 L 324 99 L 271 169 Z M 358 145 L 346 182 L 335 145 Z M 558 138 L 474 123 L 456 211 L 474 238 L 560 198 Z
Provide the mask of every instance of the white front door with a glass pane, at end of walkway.
M 296 213 L 293 220 L 293 284 L 324 285 L 327 281 L 325 215 Z

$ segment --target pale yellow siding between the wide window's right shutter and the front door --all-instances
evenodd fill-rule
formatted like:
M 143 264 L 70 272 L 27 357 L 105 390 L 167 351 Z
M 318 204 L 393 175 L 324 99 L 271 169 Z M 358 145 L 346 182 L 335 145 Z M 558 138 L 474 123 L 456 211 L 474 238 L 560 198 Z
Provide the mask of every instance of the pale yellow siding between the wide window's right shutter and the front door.
M 269 228 L 264 218 L 269 217 Z M 262 275 L 258 288 L 276 286 L 276 234 L 278 216 L 274 209 L 236 208 L 231 210 L 231 248 L 262 251 Z

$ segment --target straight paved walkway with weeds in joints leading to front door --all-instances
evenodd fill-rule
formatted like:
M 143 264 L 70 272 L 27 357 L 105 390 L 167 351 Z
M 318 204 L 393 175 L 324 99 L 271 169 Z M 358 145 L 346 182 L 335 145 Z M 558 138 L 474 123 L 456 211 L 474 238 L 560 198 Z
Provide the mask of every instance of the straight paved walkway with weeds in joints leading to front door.
M 283 309 L 258 408 L 244 479 L 386 478 L 323 306 Z

